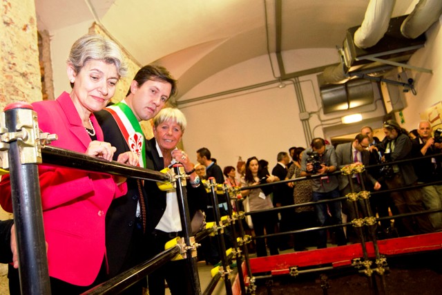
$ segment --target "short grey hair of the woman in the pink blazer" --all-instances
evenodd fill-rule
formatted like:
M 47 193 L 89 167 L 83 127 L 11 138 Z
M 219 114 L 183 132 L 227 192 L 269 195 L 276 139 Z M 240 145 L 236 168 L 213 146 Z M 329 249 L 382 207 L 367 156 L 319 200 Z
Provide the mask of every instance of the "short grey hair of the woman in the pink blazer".
M 68 64 L 71 64 L 75 73 L 79 73 L 86 61 L 90 59 L 101 60 L 114 64 L 119 77 L 124 77 L 127 72 L 126 62 L 122 50 L 114 41 L 105 39 L 100 35 L 84 35 L 70 48 Z

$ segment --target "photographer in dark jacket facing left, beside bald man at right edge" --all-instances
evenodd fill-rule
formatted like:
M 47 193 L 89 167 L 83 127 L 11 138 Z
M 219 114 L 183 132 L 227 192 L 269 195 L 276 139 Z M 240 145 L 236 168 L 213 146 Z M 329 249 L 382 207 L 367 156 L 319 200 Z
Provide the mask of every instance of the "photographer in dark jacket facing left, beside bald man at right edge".
M 384 151 L 385 162 L 394 162 L 412 158 L 412 141 L 407 132 L 394 120 L 387 120 L 383 124 L 385 138 L 378 145 Z M 384 171 L 388 171 L 384 169 Z M 417 184 L 417 176 L 414 173 L 412 162 L 393 164 L 390 172 L 385 173 L 385 183 L 388 189 L 410 187 L 402 191 L 393 191 L 392 197 L 399 213 L 424 211 L 423 193 L 421 189 L 414 189 Z M 424 234 L 434 231 L 427 215 L 416 215 L 410 218 L 402 218 L 407 234 Z

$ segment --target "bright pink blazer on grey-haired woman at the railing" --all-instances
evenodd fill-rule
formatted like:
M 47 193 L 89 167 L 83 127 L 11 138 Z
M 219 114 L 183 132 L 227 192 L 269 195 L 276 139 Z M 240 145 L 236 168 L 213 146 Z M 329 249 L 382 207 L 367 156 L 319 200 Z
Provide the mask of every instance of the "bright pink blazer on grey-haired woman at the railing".
M 52 146 L 86 151 L 90 137 L 68 93 L 32 106 L 39 128 L 58 135 Z M 102 141 L 97 120 L 94 116 L 90 120 L 97 140 Z M 74 285 L 90 285 L 106 255 L 106 211 L 113 198 L 126 194 L 126 183 L 117 187 L 111 175 L 44 165 L 39 166 L 39 180 L 49 275 Z M 0 202 L 3 209 L 12 211 L 8 175 L 0 182 Z

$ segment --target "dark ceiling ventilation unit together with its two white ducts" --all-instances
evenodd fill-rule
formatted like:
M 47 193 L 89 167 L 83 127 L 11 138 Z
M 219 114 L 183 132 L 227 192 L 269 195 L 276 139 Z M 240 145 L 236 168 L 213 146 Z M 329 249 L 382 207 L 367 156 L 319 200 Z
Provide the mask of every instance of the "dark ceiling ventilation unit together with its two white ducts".
M 347 30 L 343 48 L 339 50 L 341 64 L 324 70 L 326 83 L 344 83 L 356 71 L 375 73 L 382 64 L 390 64 L 391 68 L 405 64 L 424 46 L 424 32 L 441 16 L 442 1 L 421 0 L 410 15 L 390 19 L 394 3 L 394 0 L 369 2 L 362 25 Z

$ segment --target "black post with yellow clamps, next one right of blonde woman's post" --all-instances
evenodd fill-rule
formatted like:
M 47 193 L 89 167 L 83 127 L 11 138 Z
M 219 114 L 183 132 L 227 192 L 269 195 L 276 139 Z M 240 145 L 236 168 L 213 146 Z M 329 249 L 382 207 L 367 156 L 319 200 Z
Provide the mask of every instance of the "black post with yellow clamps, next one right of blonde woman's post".
M 210 189 L 211 189 L 211 196 L 212 196 L 212 205 L 213 205 L 213 216 L 215 219 L 215 222 L 218 222 L 218 234 L 216 235 L 218 240 L 218 249 L 220 251 L 220 258 L 221 258 L 221 264 L 222 264 L 222 271 L 224 272 L 224 285 L 226 286 L 226 293 L 227 295 L 232 294 L 232 284 L 229 279 L 229 273 L 230 273 L 230 267 L 227 264 L 227 256 L 226 256 L 226 245 L 224 243 L 224 225 L 221 221 L 221 214 L 220 214 L 220 207 L 218 204 L 218 196 L 216 194 L 216 182 L 215 178 L 211 177 L 209 178 L 210 182 Z M 229 200 L 227 200 L 229 202 Z

